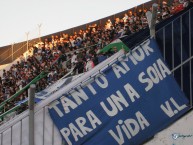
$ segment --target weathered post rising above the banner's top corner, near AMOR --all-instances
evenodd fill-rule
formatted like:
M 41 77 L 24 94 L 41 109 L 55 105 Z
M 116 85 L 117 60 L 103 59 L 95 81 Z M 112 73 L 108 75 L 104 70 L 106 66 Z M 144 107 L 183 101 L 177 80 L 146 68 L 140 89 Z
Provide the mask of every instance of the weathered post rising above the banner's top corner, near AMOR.
M 150 11 L 146 12 L 146 17 L 149 24 L 150 29 L 150 36 L 155 38 L 155 24 L 156 24 L 156 17 L 157 17 L 157 7 L 158 4 L 154 3 L 152 5 L 152 13 Z

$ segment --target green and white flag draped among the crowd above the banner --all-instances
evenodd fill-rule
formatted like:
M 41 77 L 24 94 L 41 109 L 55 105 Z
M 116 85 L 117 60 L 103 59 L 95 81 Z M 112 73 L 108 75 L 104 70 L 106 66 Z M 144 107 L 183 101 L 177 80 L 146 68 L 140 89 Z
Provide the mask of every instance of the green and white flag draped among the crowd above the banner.
M 116 39 L 112 41 L 109 45 L 105 46 L 103 49 L 99 51 L 99 53 L 105 53 L 108 51 L 119 51 L 120 49 L 124 49 L 125 51 L 129 51 L 129 48 L 120 40 Z

